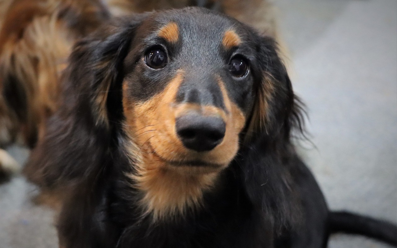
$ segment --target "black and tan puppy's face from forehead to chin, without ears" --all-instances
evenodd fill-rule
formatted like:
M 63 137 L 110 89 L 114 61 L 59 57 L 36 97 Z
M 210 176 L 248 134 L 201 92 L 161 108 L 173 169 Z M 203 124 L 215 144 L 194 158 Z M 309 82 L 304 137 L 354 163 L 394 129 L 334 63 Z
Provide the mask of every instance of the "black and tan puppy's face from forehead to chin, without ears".
M 125 131 L 140 155 L 195 173 L 227 166 L 258 87 L 250 33 L 202 12 L 156 13 L 135 32 L 122 89 Z

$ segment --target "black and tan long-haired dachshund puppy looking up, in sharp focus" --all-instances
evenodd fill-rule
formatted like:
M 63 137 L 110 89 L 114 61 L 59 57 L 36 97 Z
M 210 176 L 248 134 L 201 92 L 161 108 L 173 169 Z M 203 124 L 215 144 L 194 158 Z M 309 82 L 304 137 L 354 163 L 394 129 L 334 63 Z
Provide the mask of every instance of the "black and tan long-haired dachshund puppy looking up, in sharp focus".
M 274 38 L 183 8 L 112 19 L 78 41 L 26 167 L 62 192 L 60 247 L 397 246 L 397 227 L 327 207 Z

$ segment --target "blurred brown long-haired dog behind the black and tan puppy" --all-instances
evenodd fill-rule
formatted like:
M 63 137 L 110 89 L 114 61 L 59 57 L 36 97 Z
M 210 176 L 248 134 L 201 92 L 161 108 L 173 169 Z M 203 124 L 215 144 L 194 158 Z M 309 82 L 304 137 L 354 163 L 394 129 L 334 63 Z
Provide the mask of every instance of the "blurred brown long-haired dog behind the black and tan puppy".
M 60 75 L 73 43 L 110 16 L 202 6 L 239 18 L 283 43 L 267 0 L 10 0 L 0 3 L 0 148 L 32 148 L 58 108 Z M 0 149 L 0 179 L 20 165 Z

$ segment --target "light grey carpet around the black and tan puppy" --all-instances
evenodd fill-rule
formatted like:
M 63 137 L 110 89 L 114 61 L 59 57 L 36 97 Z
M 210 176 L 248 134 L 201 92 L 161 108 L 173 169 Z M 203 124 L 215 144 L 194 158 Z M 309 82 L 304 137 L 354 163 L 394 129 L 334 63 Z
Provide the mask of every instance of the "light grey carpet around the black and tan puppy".
M 278 0 L 315 144 L 300 152 L 332 209 L 397 223 L 397 1 Z M 21 162 L 28 151 L 12 147 Z M 0 248 L 56 247 L 53 212 L 22 177 L 0 185 Z M 347 235 L 330 248 L 385 248 Z

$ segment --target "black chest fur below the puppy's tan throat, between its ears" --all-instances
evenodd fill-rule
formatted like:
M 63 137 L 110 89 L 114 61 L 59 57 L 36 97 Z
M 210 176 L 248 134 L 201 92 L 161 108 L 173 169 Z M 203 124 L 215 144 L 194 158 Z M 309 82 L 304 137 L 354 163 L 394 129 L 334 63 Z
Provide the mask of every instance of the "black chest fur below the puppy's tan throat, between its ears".
M 254 210 L 241 179 L 233 173 L 235 166 L 220 175 L 216 190 L 204 195 L 200 210 L 189 210 L 183 217 L 154 222 L 150 215 L 143 215 L 137 204 L 142 196 L 131 191 L 130 179 L 123 175 L 119 175 L 122 180 L 114 180 L 113 188 L 104 191 L 103 199 L 111 202 L 103 201 L 102 207 L 96 208 L 104 212 L 94 215 L 108 215 L 106 229 L 117 230 L 114 245 L 119 248 L 273 247 L 273 227 L 263 213 Z

